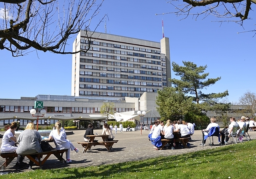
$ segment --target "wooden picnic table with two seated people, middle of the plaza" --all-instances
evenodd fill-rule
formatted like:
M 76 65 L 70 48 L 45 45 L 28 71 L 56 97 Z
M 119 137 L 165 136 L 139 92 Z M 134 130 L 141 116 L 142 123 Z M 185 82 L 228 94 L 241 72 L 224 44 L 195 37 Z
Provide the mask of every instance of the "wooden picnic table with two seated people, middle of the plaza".
M 112 146 L 114 145 L 114 143 L 117 143 L 118 140 L 112 140 L 112 141 L 108 141 L 108 136 L 109 135 L 86 135 L 86 137 L 89 137 L 89 141 L 84 141 L 84 142 L 78 142 L 79 144 L 82 145 L 82 147 L 84 148 L 83 153 L 85 153 L 88 149 L 90 149 L 95 145 L 104 145 L 106 147 L 106 149 L 110 152 L 112 149 Z M 95 137 L 102 137 L 102 141 L 95 141 Z

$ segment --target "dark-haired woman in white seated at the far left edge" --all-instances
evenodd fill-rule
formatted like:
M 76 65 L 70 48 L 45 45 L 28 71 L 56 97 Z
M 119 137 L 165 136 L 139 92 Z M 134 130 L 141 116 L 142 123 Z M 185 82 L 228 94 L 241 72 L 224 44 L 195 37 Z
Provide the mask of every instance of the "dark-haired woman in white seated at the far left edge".
M 10 128 L 5 131 L 2 139 L 1 152 L 15 152 L 17 147 L 14 146 L 17 141 L 15 130 L 17 129 L 17 123 L 12 122 Z

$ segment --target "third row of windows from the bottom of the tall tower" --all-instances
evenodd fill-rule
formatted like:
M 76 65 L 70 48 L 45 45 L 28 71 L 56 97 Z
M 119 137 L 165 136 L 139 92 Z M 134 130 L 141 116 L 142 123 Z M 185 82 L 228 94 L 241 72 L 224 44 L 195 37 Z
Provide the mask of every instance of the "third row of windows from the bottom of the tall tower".
M 121 78 L 120 74 L 114 74 L 114 78 Z M 134 79 L 136 79 L 136 78 L 134 78 Z M 140 78 L 140 79 L 142 79 L 142 78 Z M 139 78 L 138 78 L 138 80 L 139 80 Z M 162 82 L 162 78 L 155 78 L 155 77 L 145 77 L 145 80 Z M 92 82 L 92 83 L 152 86 L 152 85 L 150 85 L 150 83 L 148 83 L 149 85 L 147 85 L 146 82 L 134 82 L 134 81 L 126 81 L 126 80 L 107 80 L 107 79 L 98 79 L 98 78 L 79 78 L 79 81 L 80 82 Z M 158 83 L 158 86 L 162 86 L 162 84 Z

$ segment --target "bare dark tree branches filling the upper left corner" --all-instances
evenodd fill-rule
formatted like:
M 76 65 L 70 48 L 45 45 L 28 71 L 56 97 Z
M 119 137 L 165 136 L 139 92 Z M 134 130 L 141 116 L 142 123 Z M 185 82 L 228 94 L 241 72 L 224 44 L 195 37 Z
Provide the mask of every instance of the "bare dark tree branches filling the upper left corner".
M 22 56 L 28 50 L 40 50 L 57 54 L 87 52 L 87 49 L 71 52 L 67 40 L 80 30 L 91 30 L 91 21 L 98 15 L 104 0 L 0 0 L 0 50 L 8 50 L 12 56 Z M 90 44 L 90 43 L 89 43 Z

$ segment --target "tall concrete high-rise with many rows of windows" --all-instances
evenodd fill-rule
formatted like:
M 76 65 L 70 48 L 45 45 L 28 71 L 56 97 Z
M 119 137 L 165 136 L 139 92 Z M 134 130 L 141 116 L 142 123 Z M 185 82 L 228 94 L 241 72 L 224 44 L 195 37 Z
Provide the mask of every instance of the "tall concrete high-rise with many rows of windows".
M 71 95 L 88 99 L 140 97 L 171 86 L 169 39 L 160 42 L 94 32 L 88 52 L 72 56 Z M 73 52 L 86 49 L 81 31 Z

